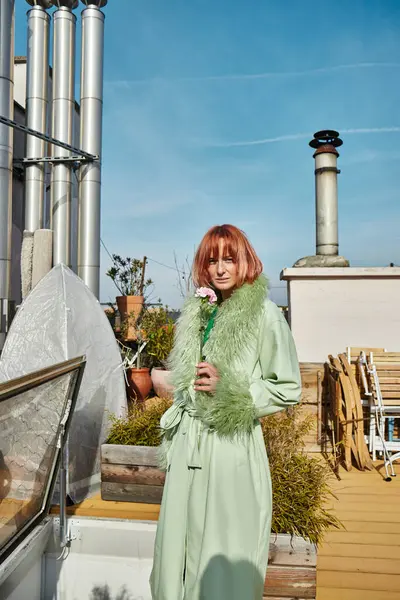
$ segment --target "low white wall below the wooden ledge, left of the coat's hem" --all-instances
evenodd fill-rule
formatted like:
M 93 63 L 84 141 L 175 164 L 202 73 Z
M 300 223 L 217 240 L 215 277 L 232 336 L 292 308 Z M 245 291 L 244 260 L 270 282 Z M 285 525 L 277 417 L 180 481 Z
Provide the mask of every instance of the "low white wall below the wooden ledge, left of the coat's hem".
M 69 526 L 75 539 L 63 560 L 57 537 L 47 547 L 42 600 L 151 600 L 155 522 L 71 518 Z

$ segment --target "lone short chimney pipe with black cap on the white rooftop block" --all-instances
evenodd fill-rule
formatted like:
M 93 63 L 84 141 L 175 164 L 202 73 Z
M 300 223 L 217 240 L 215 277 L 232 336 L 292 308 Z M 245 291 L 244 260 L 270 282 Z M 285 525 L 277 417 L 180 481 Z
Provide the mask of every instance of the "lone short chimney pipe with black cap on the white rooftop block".
M 316 253 L 323 256 L 339 254 L 336 148 L 343 144 L 337 131 L 318 131 L 311 140 L 315 148 L 315 211 Z

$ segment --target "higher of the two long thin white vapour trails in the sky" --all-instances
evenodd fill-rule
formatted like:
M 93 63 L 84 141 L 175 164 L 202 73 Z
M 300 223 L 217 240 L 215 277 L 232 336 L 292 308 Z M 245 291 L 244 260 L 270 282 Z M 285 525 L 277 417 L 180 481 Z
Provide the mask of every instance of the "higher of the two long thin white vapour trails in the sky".
M 152 77 L 148 79 L 119 79 L 105 81 L 107 86 L 129 88 L 136 85 L 148 85 L 158 83 L 192 83 L 212 81 L 253 81 L 257 79 L 274 79 L 285 77 L 307 77 L 312 75 L 323 75 L 335 71 L 349 71 L 354 69 L 398 69 L 400 63 L 396 62 L 363 62 L 347 65 L 334 65 L 332 67 L 319 67 L 305 71 L 267 71 L 265 73 L 237 73 L 231 75 L 207 75 L 205 77 Z

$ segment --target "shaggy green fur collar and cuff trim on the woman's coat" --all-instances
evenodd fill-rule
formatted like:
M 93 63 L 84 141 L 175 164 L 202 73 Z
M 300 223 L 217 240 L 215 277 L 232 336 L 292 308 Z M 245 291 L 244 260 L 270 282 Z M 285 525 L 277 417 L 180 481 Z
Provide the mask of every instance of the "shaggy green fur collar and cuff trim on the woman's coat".
M 267 292 L 268 281 L 264 275 L 235 290 L 218 308 L 214 327 L 203 348 L 206 361 L 218 369 L 220 379 L 215 394 L 196 392 L 194 408 L 197 416 L 221 436 L 249 433 L 254 426 L 250 382 L 245 373 L 235 372 L 234 366 L 254 344 Z M 200 362 L 201 304 L 201 299 L 195 296 L 185 302 L 169 359 L 171 381 L 181 405 L 182 398 L 189 401 L 190 395 L 184 392 L 192 388 L 196 364 Z

